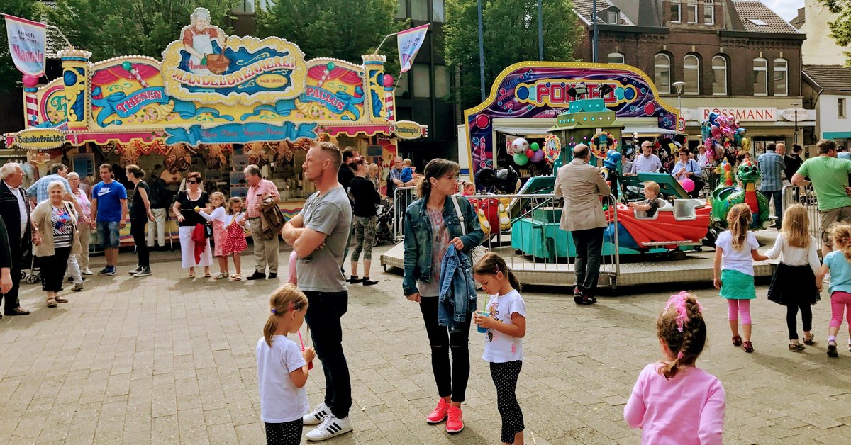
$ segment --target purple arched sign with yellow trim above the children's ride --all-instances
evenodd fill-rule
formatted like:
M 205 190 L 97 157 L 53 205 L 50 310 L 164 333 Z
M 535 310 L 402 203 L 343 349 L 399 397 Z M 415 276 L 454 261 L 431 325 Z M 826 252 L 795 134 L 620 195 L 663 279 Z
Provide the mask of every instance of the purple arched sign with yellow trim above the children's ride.
M 585 94 L 574 99 L 571 89 L 581 90 L 582 86 Z M 571 100 L 582 99 L 603 99 L 616 117 L 654 117 L 660 128 L 677 128 L 677 109 L 658 99 L 654 83 L 637 68 L 520 62 L 500 73 L 488 99 L 464 111 L 472 173 L 494 166 L 494 119 L 552 118 L 555 123 L 555 117 L 568 110 Z

